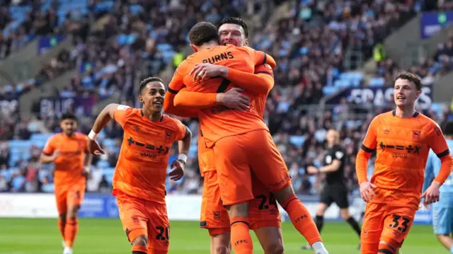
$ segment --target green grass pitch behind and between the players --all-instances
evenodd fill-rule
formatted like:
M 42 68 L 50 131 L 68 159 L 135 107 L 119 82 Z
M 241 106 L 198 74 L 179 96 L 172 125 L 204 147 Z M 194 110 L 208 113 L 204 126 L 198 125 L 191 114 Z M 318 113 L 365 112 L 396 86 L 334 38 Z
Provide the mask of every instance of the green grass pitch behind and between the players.
M 74 254 L 131 253 L 119 219 L 80 219 L 79 225 Z M 360 253 L 358 238 L 348 224 L 327 222 L 322 236 L 331 254 Z M 199 229 L 197 221 L 172 221 L 170 237 L 171 254 L 210 252 L 207 231 Z M 255 253 L 263 253 L 256 238 L 254 241 Z M 283 224 L 283 241 L 286 254 L 313 253 L 300 249 L 306 242 L 289 223 Z M 429 225 L 414 225 L 401 250 L 403 254 L 448 253 L 437 242 Z M 0 254 L 36 253 L 62 253 L 56 219 L 0 219 Z

